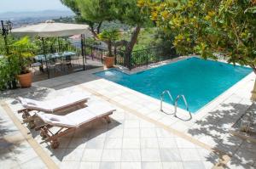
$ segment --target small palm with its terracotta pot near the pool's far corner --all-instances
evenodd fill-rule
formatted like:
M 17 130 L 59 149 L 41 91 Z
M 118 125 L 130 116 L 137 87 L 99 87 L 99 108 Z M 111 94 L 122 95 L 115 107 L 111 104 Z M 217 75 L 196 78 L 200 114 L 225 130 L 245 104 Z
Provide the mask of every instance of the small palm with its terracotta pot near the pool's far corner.
M 104 30 L 99 34 L 99 39 L 108 44 L 108 54 L 104 56 L 104 62 L 107 68 L 111 68 L 114 65 L 114 56 L 112 53 L 113 42 L 118 40 L 120 32 L 117 29 Z

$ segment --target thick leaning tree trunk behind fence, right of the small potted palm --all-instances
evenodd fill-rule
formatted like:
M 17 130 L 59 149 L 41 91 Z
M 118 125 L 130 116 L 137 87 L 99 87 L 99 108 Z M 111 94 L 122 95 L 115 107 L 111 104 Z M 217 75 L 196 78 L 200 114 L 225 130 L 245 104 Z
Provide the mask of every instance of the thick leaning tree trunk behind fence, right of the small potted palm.
M 125 46 L 125 66 L 127 66 L 128 68 L 130 68 L 129 62 L 131 59 L 131 52 L 132 52 L 132 49 L 133 49 L 135 43 L 137 42 L 137 37 L 138 37 L 140 31 L 141 31 L 141 26 L 137 25 L 137 27 L 131 34 L 130 42 L 128 42 L 127 45 Z

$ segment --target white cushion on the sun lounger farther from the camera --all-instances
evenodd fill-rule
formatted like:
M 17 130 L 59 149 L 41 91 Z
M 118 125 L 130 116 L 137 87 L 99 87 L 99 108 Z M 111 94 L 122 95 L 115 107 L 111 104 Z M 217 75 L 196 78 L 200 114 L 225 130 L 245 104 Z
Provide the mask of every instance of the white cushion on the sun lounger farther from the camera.
M 65 96 L 57 97 L 47 101 L 37 101 L 32 99 L 17 98 L 26 109 L 40 110 L 44 112 L 54 112 L 65 107 L 79 104 L 89 99 L 89 95 L 85 93 L 70 93 Z

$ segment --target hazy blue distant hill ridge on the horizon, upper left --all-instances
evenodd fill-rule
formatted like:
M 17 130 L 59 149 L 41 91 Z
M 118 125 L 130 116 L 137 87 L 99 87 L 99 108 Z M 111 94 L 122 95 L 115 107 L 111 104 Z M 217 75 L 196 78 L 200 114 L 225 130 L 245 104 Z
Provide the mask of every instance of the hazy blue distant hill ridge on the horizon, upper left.
M 38 12 L 7 12 L 0 13 L 0 20 L 22 20 L 26 18 L 59 18 L 74 15 L 68 10 L 44 10 Z

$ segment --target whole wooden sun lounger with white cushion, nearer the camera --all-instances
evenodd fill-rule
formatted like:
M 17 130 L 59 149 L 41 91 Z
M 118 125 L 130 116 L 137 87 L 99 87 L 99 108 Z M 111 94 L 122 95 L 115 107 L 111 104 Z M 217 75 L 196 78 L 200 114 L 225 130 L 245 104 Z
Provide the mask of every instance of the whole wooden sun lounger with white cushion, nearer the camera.
M 113 111 L 115 110 L 110 104 L 96 101 L 84 109 L 73 111 L 67 115 L 52 115 L 38 112 L 36 115 L 45 124 L 37 127 L 36 130 L 40 130 L 40 136 L 44 139 L 45 143 L 50 143 L 52 149 L 57 149 L 60 145 L 59 138 L 100 119 L 104 119 L 109 123 L 111 122 L 109 115 L 112 115 Z M 55 128 L 57 132 L 53 132 L 53 130 L 50 130 L 51 127 L 59 129 L 56 130 Z

